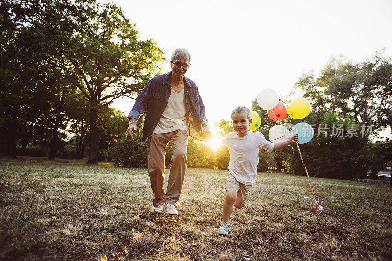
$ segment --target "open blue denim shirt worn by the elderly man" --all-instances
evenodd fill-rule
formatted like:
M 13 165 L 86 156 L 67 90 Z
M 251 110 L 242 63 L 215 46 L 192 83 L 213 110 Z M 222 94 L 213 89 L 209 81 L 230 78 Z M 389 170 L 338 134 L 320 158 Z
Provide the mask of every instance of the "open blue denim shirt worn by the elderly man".
M 143 125 L 143 137 L 140 145 L 144 146 L 150 139 L 155 126 L 158 124 L 163 111 L 168 105 L 172 93 L 170 75 L 163 74 L 152 78 L 136 98 L 135 105 L 128 115 L 128 119 L 139 119 L 140 114 L 146 113 Z M 207 120 L 205 106 L 199 95 L 196 84 L 184 77 L 184 92 L 186 105 L 189 110 L 188 136 L 203 140 L 200 135 L 201 121 Z

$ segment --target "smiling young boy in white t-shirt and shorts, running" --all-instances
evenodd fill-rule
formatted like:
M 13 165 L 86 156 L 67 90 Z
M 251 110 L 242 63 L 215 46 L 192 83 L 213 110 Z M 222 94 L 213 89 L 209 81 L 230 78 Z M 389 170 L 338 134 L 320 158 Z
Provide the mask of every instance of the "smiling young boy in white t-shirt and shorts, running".
M 236 132 L 230 132 L 221 143 L 229 148 L 230 164 L 226 181 L 226 198 L 223 203 L 223 222 L 218 234 L 227 235 L 229 219 L 233 205 L 241 209 L 250 188 L 255 182 L 257 164 L 259 163 L 259 147 L 268 152 L 279 150 L 289 144 L 298 142 L 298 134 L 294 134 L 284 142 L 272 143 L 267 141 L 260 132 L 249 131 L 252 124 L 250 110 L 245 106 L 234 108 L 231 113 L 231 123 Z

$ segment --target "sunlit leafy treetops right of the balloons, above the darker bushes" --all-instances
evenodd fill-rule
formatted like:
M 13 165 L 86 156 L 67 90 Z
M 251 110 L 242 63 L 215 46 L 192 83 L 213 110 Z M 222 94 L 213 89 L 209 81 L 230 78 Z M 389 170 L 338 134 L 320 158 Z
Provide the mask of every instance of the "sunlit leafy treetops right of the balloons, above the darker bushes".
M 314 109 L 331 111 L 357 122 L 373 125 L 375 131 L 390 127 L 392 131 L 392 59 L 380 53 L 368 61 L 354 64 L 342 57 L 332 58 L 315 77 L 304 74 L 295 91 L 314 105 Z

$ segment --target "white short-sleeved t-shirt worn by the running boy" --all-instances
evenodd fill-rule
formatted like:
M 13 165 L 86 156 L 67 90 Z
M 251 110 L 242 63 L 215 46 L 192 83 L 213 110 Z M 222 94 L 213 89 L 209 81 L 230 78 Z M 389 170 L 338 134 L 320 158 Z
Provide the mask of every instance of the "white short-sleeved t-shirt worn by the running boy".
M 274 144 L 267 141 L 258 131 L 249 131 L 246 136 L 239 137 L 237 132 L 230 132 L 222 138 L 230 152 L 229 173 L 245 185 L 253 185 L 259 163 L 259 147 L 272 152 Z

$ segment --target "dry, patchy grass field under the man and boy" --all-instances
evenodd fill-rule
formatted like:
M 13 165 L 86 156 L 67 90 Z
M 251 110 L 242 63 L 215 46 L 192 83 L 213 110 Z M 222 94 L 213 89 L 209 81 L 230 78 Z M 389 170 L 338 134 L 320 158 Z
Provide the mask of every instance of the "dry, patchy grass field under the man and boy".
M 222 236 L 226 171 L 188 169 L 169 216 L 146 169 L 84 162 L 0 157 L 1 260 L 392 259 L 390 185 L 312 178 L 318 215 L 306 176 L 259 173 Z

